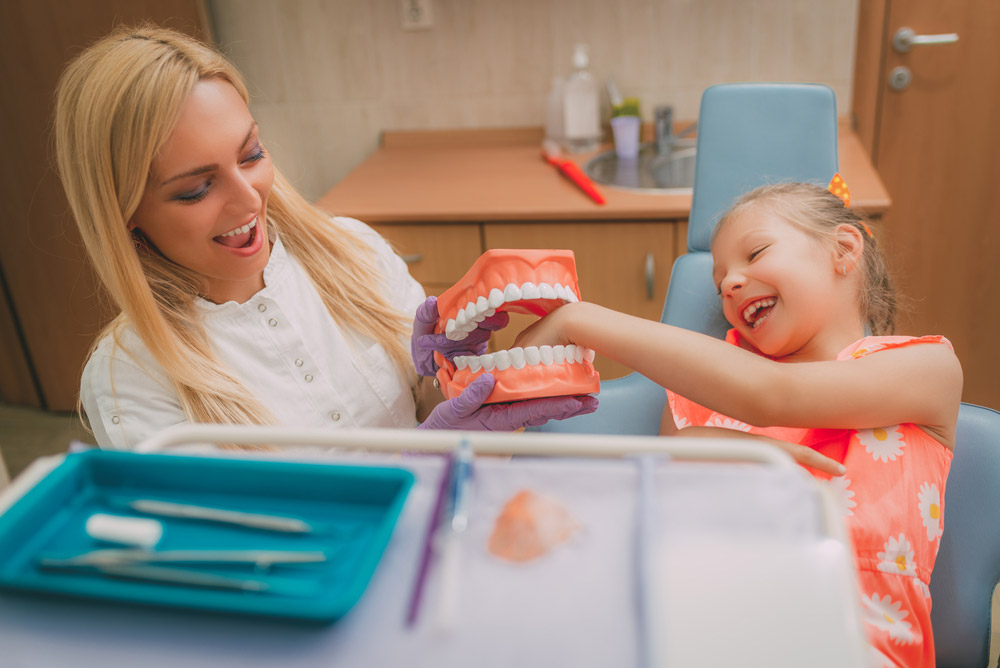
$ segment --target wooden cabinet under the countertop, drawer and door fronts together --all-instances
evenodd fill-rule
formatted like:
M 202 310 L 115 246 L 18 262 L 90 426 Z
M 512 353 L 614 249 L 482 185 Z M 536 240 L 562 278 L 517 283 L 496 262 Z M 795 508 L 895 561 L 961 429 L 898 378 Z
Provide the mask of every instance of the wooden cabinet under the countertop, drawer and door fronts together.
M 491 248 L 568 248 L 576 256 L 580 293 L 587 301 L 659 320 L 670 270 L 683 248 L 683 221 L 545 221 L 489 223 L 380 223 L 373 225 L 407 261 L 429 295 L 451 287 Z M 494 350 L 509 348 L 533 321 L 514 315 L 494 334 Z M 598 357 L 602 378 L 630 369 Z

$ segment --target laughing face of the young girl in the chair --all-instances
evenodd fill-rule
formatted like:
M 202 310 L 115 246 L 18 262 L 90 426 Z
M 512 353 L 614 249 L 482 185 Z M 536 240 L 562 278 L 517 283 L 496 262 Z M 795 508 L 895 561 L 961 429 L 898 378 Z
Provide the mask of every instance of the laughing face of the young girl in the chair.
M 712 257 L 726 320 L 760 352 L 822 359 L 853 340 L 840 336 L 842 319 L 857 321 L 857 302 L 838 277 L 834 249 L 766 205 L 726 220 Z

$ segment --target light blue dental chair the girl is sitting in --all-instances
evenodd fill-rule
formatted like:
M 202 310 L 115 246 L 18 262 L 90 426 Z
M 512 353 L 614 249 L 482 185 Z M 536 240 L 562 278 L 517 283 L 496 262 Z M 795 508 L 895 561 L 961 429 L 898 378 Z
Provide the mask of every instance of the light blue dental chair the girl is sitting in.
M 688 252 L 674 263 L 661 322 L 723 338 L 709 241 L 741 194 L 766 183 L 826 186 L 837 172 L 833 91 L 814 84 L 721 84 L 702 95 Z M 850 184 L 848 184 L 850 185 Z M 662 387 L 632 373 L 601 383 L 590 415 L 545 432 L 659 433 Z M 989 658 L 993 589 L 1000 580 L 1000 413 L 963 404 L 945 492 L 945 532 L 931 594 L 937 665 L 982 668 Z

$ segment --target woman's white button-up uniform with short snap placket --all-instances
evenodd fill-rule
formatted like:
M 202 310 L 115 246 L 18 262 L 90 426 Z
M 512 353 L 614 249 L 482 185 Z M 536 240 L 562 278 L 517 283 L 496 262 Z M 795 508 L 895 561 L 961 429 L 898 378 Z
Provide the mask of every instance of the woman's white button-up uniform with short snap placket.
M 407 314 L 425 298 L 406 264 L 370 227 L 351 218 L 334 223 L 375 251 L 387 295 Z M 279 425 L 414 427 L 413 393 L 381 344 L 329 315 L 312 282 L 280 239 L 264 269 L 266 287 L 243 304 L 198 300 L 215 352 Z M 185 422 L 163 369 L 131 328 L 115 346 L 105 337 L 83 371 L 83 408 L 103 448 L 131 449 Z

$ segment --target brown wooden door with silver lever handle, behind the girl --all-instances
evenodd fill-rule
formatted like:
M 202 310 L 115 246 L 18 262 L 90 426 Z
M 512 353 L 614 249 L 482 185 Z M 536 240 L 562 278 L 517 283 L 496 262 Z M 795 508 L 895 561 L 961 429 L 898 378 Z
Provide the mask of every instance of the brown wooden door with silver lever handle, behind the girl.
M 901 53 L 894 34 L 957 33 Z M 1000 408 L 1000 2 L 862 0 L 858 134 L 892 197 L 884 234 L 911 300 L 903 334 L 944 334 L 965 401 Z M 912 79 L 890 86 L 895 68 Z

